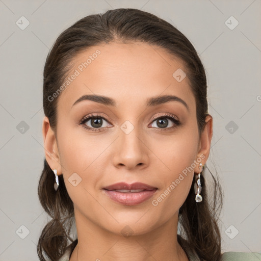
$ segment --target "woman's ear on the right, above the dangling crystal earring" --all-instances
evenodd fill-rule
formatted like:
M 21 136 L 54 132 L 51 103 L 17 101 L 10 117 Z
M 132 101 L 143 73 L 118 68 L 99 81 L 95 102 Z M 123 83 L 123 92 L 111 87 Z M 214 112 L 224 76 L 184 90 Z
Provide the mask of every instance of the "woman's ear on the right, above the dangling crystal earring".
M 213 135 L 213 118 L 211 115 L 207 115 L 205 118 L 205 127 L 203 132 L 201 133 L 201 137 L 199 137 L 199 145 L 198 145 L 198 157 L 203 154 L 205 157 L 202 160 L 202 165 L 208 159 L 210 155 L 210 148 L 211 148 L 211 140 Z

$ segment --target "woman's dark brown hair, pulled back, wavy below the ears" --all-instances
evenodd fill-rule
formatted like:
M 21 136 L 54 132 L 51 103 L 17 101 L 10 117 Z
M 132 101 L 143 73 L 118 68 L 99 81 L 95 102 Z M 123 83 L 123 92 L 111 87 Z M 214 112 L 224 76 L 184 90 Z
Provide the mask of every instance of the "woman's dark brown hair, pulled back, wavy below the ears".
M 57 101 L 60 95 L 52 101 L 48 97 L 62 86 L 71 68 L 71 60 L 88 47 L 115 40 L 159 46 L 184 62 L 196 99 L 197 124 L 201 135 L 208 115 L 207 84 L 205 70 L 195 48 L 184 34 L 167 21 L 130 8 L 108 10 L 106 13 L 89 15 L 76 21 L 61 33 L 49 51 L 43 72 L 43 109 L 55 135 L 57 135 Z M 194 182 L 192 182 L 188 197 L 179 210 L 179 224 L 181 236 L 187 239 L 200 259 L 218 261 L 221 257 L 221 235 L 217 213 L 222 206 L 223 196 L 218 179 L 215 179 L 211 172 L 214 186 L 211 195 L 207 195 L 205 169 L 200 177 L 203 201 L 195 202 Z M 67 193 L 63 175 L 60 175 L 59 179 L 60 186 L 56 192 L 55 175 L 44 159 L 38 195 L 44 210 L 51 217 L 51 221 L 43 228 L 37 245 L 38 256 L 44 261 L 45 256 L 54 261 L 58 260 L 65 252 L 69 241 L 73 247 L 77 244 L 77 239 L 73 241 L 70 238 L 74 222 L 73 202 Z

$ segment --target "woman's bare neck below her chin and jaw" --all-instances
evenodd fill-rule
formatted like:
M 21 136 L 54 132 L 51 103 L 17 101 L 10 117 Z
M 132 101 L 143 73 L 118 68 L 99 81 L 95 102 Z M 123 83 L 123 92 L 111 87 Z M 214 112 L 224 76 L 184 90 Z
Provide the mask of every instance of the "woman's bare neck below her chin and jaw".
M 74 213 L 78 244 L 69 261 L 189 260 L 177 242 L 178 214 L 147 233 L 124 237 L 101 228 L 77 210 Z

